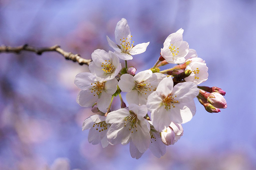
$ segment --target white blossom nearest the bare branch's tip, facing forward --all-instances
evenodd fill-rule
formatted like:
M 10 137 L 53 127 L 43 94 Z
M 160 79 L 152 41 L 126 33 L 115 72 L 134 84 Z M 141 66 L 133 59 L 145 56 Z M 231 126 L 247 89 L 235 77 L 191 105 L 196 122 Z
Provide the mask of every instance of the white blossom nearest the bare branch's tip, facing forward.
M 111 80 L 121 70 L 122 66 L 119 58 L 113 52 L 108 53 L 104 50 L 97 49 L 92 53 L 92 62 L 89 64 L 91 73 L 100 78 Z

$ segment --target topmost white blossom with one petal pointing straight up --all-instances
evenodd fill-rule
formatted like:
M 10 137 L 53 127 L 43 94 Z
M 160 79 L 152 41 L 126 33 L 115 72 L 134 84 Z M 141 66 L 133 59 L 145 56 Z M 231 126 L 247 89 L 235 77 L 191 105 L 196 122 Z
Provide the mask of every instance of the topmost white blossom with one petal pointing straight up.
M 116 43 L 107 36 L 108 45 L 115 50 L 116 55 L 122 60 L 132 60 L 131 55 L 144 53 L 149 44 L 147 42 L 133 45 L 134 41 L 132 41 L 130 27 L 125 18 L 122 18 L 116 24 L 115 39 Z

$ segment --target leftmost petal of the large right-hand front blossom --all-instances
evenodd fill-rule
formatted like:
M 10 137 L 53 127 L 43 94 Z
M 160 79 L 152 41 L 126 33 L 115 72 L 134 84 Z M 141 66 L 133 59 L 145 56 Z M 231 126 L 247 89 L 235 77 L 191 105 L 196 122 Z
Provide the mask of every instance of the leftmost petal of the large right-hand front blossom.
M 147 107 L 149 111 L 159 108 L 163 104 L 162 93 L 154 91 L 148 96 Z

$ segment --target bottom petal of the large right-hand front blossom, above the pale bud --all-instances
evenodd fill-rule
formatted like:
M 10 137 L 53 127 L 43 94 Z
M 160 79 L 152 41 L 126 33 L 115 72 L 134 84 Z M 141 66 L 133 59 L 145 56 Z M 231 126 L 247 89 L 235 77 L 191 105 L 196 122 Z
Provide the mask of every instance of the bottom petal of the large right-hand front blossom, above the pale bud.
M 151 120 L 157 131 L 163 131 L 172 122 L 164 106 L 152 111 Z

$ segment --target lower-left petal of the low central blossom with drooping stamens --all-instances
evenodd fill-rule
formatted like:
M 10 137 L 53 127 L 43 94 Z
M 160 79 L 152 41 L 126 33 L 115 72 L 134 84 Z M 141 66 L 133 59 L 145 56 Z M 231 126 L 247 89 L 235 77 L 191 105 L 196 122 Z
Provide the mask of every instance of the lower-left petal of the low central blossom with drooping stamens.
M 124 127 L 124 123 L 114 123 L 107 132 L 108 142 L 112 145 L 120 144 L 129 136 L 131 132 L 129 128 Z

